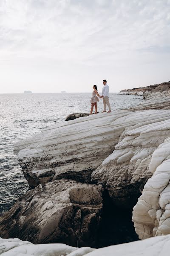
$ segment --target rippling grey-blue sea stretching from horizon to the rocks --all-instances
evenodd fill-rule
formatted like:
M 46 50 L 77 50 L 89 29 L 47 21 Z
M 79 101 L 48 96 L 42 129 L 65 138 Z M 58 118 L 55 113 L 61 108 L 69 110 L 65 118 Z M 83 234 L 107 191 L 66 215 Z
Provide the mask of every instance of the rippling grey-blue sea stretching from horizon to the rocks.
M 110 93 L 111 108 L 128 108 L 142 97 Z M 28 189 L 14 144 L 65 120 L 70 113 L 89 113 L 92 93 L 0 94 L 0 214 L 11 208 Z M 103 110 L 102 100 L 98 112 Z

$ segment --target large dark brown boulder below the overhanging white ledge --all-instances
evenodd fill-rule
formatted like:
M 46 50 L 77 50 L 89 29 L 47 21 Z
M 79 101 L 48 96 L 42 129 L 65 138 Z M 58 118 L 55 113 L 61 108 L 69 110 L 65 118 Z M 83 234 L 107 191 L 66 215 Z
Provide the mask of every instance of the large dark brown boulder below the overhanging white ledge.
M 0 217 L 0 235 L 40 243 L 96 247 L 102 187 L 71 180 L 40 184 Z

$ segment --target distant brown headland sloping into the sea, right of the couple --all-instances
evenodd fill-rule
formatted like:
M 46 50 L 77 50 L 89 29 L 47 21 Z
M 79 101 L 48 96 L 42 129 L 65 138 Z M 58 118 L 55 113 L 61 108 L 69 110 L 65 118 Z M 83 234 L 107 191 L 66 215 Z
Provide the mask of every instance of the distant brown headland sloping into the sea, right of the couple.
M 163 91 L 166 91 L 166 90 L 170 90 L 170 81 L 164 82 L 161 84 L 153 84 L 146 87 L 121 90 L 119 94 L 144 96 L 144 99 L 146 99 L 147 95 L 150 93 L 156 93 L 156 92 L 162 93 Z

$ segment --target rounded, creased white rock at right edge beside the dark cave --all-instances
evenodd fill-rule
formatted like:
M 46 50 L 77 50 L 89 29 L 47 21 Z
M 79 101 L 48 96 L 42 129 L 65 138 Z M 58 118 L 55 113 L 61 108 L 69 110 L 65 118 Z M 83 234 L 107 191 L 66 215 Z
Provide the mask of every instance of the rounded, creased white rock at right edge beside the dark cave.
M 170 234 L 170 137 L 153 152 L 153 176 L 133 208 L 133 222 L 140 239 Z

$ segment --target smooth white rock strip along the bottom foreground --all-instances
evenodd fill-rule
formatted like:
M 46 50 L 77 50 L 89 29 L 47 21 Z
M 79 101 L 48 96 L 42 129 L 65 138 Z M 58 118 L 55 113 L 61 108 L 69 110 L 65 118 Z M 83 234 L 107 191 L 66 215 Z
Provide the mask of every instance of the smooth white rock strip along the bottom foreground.
M 170 235 L 101 249 L 65 244 L 31 244 L 20 239 L 0 239 L 2 256 L 169 256 Z M 0 251 L 0 253 L 1 253 Z

